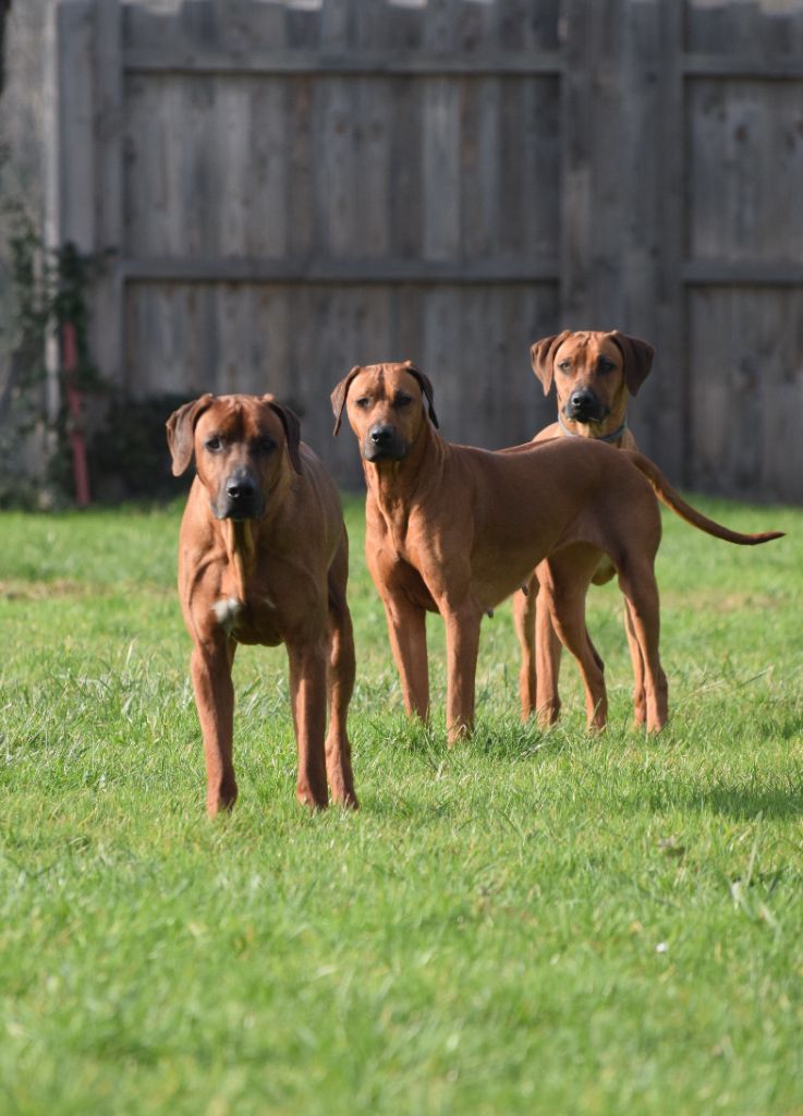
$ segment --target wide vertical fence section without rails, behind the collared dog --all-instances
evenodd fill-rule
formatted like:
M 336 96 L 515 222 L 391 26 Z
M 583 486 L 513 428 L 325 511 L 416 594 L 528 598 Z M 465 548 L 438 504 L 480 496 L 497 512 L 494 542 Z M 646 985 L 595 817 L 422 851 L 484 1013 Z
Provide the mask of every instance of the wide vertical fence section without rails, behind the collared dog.
M 683 480 L 683 99 L 676 0 L 564 0 L 562 324 L 658 348 L 631 408 Z

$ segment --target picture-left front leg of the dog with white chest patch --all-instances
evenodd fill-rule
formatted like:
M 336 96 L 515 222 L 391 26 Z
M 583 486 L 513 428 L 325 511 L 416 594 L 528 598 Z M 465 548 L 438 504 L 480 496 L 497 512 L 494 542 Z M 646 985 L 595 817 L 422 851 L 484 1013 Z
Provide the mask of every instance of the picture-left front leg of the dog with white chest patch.
M 196 644 L 191 660 L 195 706 L 206 759 L 206 810 L 211 818 L 220 810 L 231 809 L 238 796 L 232 760 L 234 686 L 231 668 L 234 646 L 224 636 L 214 643 Z

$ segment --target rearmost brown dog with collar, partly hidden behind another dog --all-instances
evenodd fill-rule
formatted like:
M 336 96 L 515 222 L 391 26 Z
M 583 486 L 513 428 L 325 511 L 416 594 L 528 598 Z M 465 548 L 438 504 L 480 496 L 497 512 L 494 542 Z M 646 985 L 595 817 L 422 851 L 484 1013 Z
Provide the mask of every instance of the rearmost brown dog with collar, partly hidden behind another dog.
M 544 337 L 530 349 L 533 372 L 549 395 L 558 396 L 558 422 L 540 431 L 534 442 L 552 437 L 596 437 L 617 449 L 638 450 L 628 430 L 628 396 L 636 395 L 649 375 L 655 349 L 638 337 L 612 333 L 563 330 Z M 522 720 L 538 714 L 541 725 L 554 724 L 560 713 L 558 679 L 561 643 L 552 627 L 550 559 L 545 559 L 513 597 L 513 618 L 522 653 L 519 675 Z M 591 578 L 604 585 L 615 576 L 610 559 L 602 558 Z M 646 716 L 644 661 L 628 608 L 625 631 L 633 670 L 633 710 L 637 724 Z M 601 661 L 600 661 L 601 662 Z

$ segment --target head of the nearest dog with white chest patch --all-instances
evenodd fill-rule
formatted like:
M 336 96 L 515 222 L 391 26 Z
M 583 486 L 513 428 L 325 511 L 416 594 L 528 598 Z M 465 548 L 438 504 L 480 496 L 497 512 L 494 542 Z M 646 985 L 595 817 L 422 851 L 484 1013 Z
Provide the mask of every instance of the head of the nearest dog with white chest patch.
M 291 470 L 301 472 L 299 421 L 272 395 L 202 395 L 167 420 L 173 475 L 193 454 L 217 519 L 259 519 Z

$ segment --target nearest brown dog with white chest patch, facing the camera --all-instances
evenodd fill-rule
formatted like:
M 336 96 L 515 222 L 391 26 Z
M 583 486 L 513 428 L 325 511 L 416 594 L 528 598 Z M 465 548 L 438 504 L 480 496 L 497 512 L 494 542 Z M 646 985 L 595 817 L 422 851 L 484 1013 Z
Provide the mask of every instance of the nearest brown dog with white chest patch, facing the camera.
M 197 475 L 182 520 L 178 593 L 206 756 L 206 808 L 231 807 L 232 662 L 240 643 L 284 643 L 298 743 L 297 797 L 357 806 L 346 714 L 355 680 L 340 499 L 272 395 L 203 395 L 167 421 L 177 477 Z M 328 674 L 328 679 L 327 679 Z M 327 683 L 329 733 L 326 737 Z

